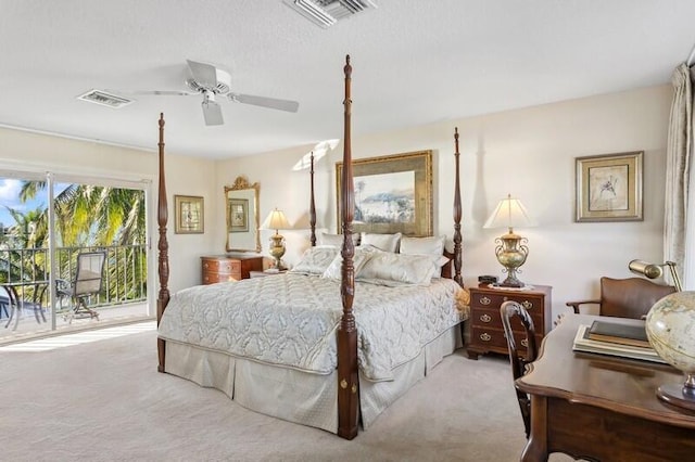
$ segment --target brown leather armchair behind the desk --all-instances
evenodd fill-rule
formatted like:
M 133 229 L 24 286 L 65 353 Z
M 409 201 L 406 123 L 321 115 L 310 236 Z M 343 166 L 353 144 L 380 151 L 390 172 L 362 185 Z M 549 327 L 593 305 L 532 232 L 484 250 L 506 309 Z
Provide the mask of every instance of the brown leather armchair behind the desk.
M 598 305 L 598 315 L 644 319 L 654 304 L 675 292 L 672 285 L 655 284 L 641 278 L 601 278 L 601 298 L 567 301 L 576 313 L 582 305 Z

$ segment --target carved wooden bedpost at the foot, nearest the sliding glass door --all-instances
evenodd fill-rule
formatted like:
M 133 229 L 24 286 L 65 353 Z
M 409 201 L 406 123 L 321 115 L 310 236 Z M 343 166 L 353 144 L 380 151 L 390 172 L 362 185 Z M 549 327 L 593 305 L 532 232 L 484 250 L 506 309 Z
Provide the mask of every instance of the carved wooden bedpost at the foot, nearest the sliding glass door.
M 159 274 L 160 274 L 160 293 L 156 299 L 156 324 L 160 325 L 162 315 L 169 303 L 169 290 L 167 287 L 169 280 L 169 244 L 166 241 L 166 222 L 168 220 L 168 209 L 166 203 L 166 182 L 164 178 L 164 113 L 160 114 L 160 191 L 157 196 L 156 219 L 160 226 L 160 241 L 157 248 L 159 256 Z M 164 354 L 165 343 L 162 338 L 156 339 L 156 350 L 159 356 L 157 371 L 164 372 Z

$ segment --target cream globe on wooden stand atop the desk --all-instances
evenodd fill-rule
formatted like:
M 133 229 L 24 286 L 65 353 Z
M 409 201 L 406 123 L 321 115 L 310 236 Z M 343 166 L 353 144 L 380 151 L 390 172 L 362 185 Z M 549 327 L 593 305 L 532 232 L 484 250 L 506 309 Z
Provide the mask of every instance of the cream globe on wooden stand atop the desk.
M 646 319 L 649 344 L 666 362 L 682 371 L 682 384 L 665 384 L 657 396 L 695 410 L 695 292 L 675 292 L 658 300 Z

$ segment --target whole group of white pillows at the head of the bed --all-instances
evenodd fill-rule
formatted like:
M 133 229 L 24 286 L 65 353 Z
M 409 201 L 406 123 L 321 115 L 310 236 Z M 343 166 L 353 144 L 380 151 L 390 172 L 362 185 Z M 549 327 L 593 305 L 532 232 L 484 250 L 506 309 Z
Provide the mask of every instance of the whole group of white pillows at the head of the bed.
M 441 268 L 448 261 L 443 255 L 445 240 L 444 235 L 353 234 L 355 280 L 388 286 L 429 285 L 432 279 L 441 278 Z M 291 272 L 340 280 L 343 235 L 319 232 L 318 243 Z

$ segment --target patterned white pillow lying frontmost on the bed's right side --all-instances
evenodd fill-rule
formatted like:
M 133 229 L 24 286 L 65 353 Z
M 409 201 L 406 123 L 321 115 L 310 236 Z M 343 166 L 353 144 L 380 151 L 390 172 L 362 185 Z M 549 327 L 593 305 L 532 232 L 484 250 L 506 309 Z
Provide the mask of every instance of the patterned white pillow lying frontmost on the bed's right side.
M 357 274 L 358 281 L 380 285 L 429 285 L 434 265 L 429 255 L 393 254 L 374 252 Z

